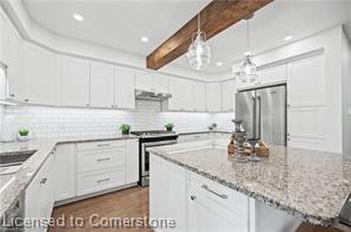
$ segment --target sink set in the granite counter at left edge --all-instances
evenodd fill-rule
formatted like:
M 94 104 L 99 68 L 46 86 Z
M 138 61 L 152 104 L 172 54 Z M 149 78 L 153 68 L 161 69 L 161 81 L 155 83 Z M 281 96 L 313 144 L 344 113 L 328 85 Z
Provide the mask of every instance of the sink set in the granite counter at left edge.
M 0 175 L 8 175 L 17 172 L 22 163 L 36 153 L 37 150 L 16 151 L 0 154 Z

